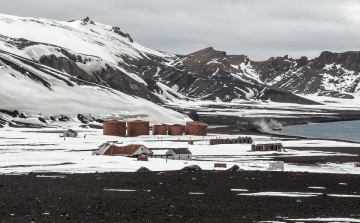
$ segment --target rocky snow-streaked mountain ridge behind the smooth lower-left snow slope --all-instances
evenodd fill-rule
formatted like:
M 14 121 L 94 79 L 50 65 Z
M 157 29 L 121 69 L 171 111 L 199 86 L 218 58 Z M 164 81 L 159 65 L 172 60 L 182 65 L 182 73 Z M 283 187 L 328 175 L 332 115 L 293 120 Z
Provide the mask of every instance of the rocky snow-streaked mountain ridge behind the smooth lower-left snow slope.
M 88 17 L 61 22 L 0 14 L 0 30 L 0 63 L 28 72 L 50 91 L 54 83 L 46 81 L 54 73 L 68 86 L 86 81 L 157 105 L 239 99 L 317 105 L 307 95 L 353 99 L 360 91 L 358 51 L 324 51 L 311 60 L 252 61 L 213 47 L 176 55 L 143 47 L 119 27 Z M 9 65 L 9 58 L 19 64 Z M 36 75 L 45 71 L 49 77 Z

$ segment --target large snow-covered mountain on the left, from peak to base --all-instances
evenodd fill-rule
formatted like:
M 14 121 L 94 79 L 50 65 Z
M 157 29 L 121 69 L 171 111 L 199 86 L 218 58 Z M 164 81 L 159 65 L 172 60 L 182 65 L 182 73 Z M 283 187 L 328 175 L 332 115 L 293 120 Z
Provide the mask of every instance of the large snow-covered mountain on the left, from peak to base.
M 118 28 L 86 19 L 55 22 L 0 15 L 0 20 L 0 109 L 41 113 L 45 120 L 77 114 L 153 123 L 188 120 L 153 103 L 160 99 L 146 82 L 118 66 L 121 56 L 165 56 L 133 43 Z

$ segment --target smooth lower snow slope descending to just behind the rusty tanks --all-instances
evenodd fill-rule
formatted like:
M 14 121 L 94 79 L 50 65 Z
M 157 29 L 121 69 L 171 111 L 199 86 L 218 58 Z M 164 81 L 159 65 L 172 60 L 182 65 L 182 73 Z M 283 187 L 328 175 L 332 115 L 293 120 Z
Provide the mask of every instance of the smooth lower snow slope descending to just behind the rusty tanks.
M 49 121 L 50 116 L 71 118 L 77 114 L 92 114 L 101 119 L 141 118 L 152 123 L 188 120 L 185 115 L 148 100 L 74 78 L 21 57 L 0 52 L 0 60 L 1 109 L 24 112 L 28 117 L 41 113 Z

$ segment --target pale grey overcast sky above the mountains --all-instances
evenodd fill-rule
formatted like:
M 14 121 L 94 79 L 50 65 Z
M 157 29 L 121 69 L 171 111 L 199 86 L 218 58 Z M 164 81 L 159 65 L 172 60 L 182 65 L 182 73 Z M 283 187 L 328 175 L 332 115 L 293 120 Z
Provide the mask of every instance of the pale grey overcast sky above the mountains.
M 212 46 L 266 60 L 360 50 L 355 0 L 1 0 L 0 13 L 61 21 L 89 16 L 176 54 Z

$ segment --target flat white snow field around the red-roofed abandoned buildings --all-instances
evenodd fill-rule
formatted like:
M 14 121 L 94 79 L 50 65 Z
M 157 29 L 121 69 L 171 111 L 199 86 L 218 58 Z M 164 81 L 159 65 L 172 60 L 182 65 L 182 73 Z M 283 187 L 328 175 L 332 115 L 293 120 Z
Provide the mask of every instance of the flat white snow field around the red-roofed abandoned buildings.
M 223 162 L 227 168 L 238 165 L 244 170 L 267 171 L 269 162 L 274 156 L 336 156 L 351 155 L 322 151 L 297 151 L 285 152 L 251 152 L 250 144 L 208 145 L 209 139 L 215 137 L 234 138 L 242 135 L 212 135 L 208 136 L 140 136 L 140 137 L 116 137 L 104 136 L 102 130 L 80 129 L 77 138 L 59 137 L 66 128 L 44 129 L 0 129 L 0 172 L 5 174 L 29 173 L 29 172 L 62 172 L 62 173 L 90 173 L 90 172 L 134 172 L 141 166 L 152 171 L 180 170 L 188 165 L 199 165 L 204 170 L 225 170 L 214 168 L 214 163 Z M 84 135 L 86 134 L 86 139 Z M 159 137 L 159 139 L 158 139 Z M 162 137 L 162 139 L 161 139 Z M 188 145 L 187 140 L 194 140 L 194 145 Z M 264 136 L 252 136 L 257 142 L 281 141 L 279 138 L 271 139 Z M 106 141 L 119 141 L 127 144 L 144 144 L 154 150 L 155 154 L 164 152 L 165 148 L 187 147 L 193 154 L 191 161 L 170 160 L 161 158 L 149 158 L 148 162 L 136 161 L 136 158 L 121 156 L 92 156 L 92 150 Z M 334 142 L 327 140 L 288 140 L 282 141 L 286 146 L 306 146 L 306 142 L 313 141 L 314 145 L 326 146 L 352 146 L 357 144 L 346 142 Z M 303 143 L 303 144 L 302 144 Z M 314 166 L 299 166 L 285 164 L 285 171 L 305 171 L 323 173 L 350 173 L 359 174 L 359 170 L 353 163 L 326 163 Z

